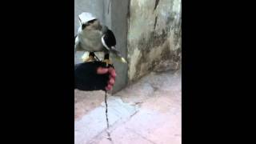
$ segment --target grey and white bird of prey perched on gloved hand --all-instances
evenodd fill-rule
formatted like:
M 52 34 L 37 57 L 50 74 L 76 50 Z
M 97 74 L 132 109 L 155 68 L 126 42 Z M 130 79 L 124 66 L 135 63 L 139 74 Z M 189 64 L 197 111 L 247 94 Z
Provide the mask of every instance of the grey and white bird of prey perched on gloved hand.
M 105 55 L 104 62 L 110 64 L 109 54 L 114 58 L 126 63 L 120 52 L 116 50 L 116 39 L 114 33 L 107 26 L 102 25 L 98 18 L 93 14 L 83 12 L 79 14 L 78 34 L 75 37 L 74 51 L 90 52 L 89 58 L 85 62 L 94 61 L 94 52 L 103 52 Z M 96 57 L 97 58 L 97 57 Z

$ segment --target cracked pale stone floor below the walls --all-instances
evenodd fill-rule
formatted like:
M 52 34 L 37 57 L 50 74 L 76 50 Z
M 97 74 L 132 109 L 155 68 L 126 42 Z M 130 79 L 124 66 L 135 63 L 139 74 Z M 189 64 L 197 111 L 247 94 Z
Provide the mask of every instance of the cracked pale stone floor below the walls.
M 74 90 L 75 144 L 181 144 L 180 72 L 150 73 L 117 94 L 108 94 L 110 138 L 104 92 Z

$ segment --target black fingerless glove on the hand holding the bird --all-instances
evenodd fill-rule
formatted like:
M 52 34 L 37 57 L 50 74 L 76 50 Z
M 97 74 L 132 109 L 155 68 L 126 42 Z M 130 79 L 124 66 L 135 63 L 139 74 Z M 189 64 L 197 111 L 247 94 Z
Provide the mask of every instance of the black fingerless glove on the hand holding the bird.
M 106 90 L 109 85 L 110 73 L 99 74 L 98 68 L 106 67 L 104 62 L 84 62 L 74 66 L 74 89 L 78 90 Z M 112 67 L 113 65 L 109 65 Z M 114 76 L 115 77 L 115 76 Z M 112 82 L 113 83 L 113 82 Z

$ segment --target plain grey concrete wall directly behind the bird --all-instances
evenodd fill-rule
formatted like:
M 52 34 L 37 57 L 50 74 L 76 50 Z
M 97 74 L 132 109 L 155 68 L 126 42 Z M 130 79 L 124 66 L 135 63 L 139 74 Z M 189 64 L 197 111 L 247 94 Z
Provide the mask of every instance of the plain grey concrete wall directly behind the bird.
M 126 58 L 127 55 L 127 13 L 128 13 L 129 0 L 74 0 L 74 35 L 78 30 L 78 14 L 84 11 L 95 14 L 98 19 L 106 26 L 113 30 L 117 38 L 117 49 Z M 112 9 L 112 7 L 115 7 Z M 74 58 L 74 63 L 82 62 L 82 53 L 78 52 Z M 101 58 L 102 54 L 98 54 Z M 121 90 L 127 83 L 126 64 L 114 62 L 117 78 L 112 93 Z

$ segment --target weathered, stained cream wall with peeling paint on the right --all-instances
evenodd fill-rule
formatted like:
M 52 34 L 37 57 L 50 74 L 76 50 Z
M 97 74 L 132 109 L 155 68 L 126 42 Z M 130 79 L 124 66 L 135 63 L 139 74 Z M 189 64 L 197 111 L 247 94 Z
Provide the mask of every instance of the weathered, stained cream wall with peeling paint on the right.
M 130 0 L 129 82 L 181 64 L 181 0 Z

